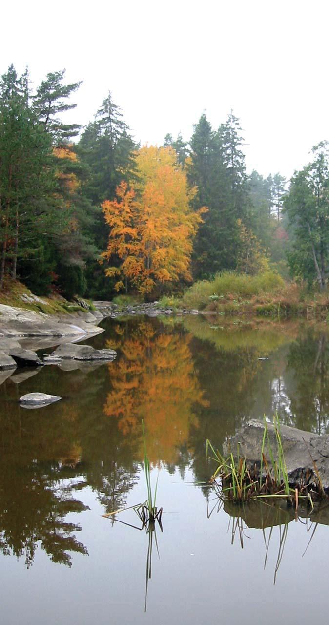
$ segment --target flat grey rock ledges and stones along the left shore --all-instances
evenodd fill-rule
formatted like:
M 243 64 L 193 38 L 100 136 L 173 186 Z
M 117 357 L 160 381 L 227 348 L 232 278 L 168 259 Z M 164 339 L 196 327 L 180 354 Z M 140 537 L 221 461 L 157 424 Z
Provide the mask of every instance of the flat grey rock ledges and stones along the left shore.
M 196 310 L 160 307 L 158 302 L 118 306 L 110 301 L 95 301 L 92 310 L 84 309 L 85 303 L 81 300 L 81 310 L 67 314 L 45 314 L 0 304 L 0 384 L 9 376 L 19 384 L 36 375 L 44 364 L 54 364 L 65 371 L 90 370 L 113 360 L 116 356 L 113 350 L 96 350 L 81 344 L 84 339 L 104 332 L 98 324 L 106 317 L 199 314 Z M 37 354 L 56 346 L 50 355 Z

